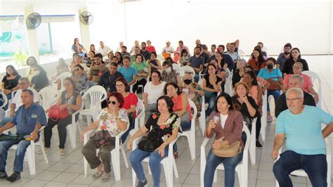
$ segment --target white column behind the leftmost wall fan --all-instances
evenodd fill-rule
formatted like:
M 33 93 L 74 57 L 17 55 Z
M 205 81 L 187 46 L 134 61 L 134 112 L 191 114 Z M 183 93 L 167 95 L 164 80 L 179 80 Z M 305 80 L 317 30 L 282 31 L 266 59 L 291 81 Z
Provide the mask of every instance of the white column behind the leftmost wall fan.
M 25 20 L 27 20 L 27 16 L 31 13 L 34 13 L 34 6 L 30 4 L 30 6 L 25 7 Z M 29 56 L 34 56 L 39 62 L 39 47 L 37 40 L 37 32 L 36 30 L 27 30 L 27 46 L 29 51 Z M 39 62 L 40 63 L 40 62 Z

